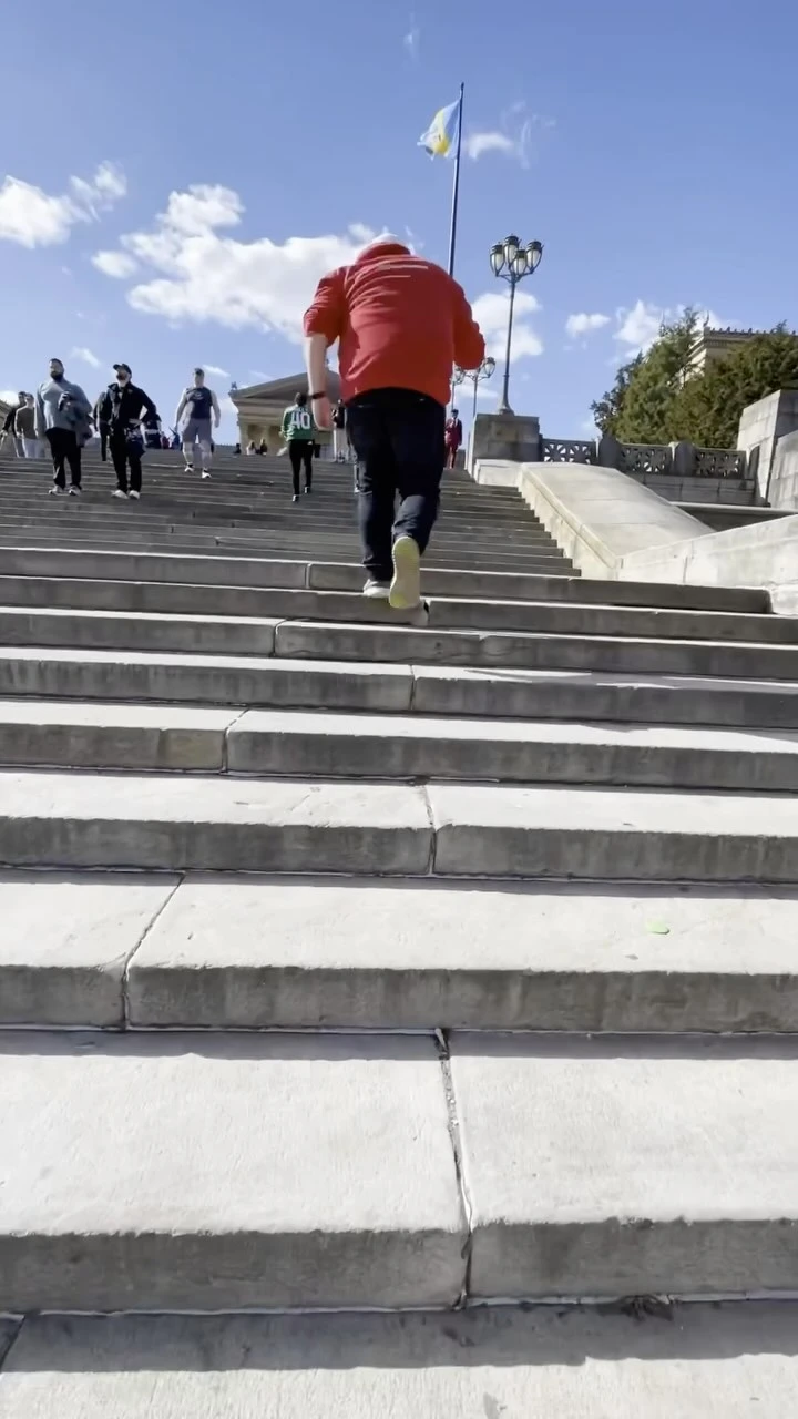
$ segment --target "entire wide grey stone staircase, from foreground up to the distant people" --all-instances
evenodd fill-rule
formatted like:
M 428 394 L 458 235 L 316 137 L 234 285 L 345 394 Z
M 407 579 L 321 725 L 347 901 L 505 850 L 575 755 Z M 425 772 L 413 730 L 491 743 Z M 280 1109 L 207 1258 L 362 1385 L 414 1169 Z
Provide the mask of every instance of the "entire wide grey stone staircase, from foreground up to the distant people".
M 798 619 L 284 474 L 3 468 L 3 1419 L 784 1419 Z

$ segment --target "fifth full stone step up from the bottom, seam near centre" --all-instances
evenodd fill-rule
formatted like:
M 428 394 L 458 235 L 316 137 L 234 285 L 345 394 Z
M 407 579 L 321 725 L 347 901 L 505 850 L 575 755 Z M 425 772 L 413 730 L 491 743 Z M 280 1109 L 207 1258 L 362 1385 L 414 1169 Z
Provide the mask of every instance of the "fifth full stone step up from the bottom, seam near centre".
M 0 647 L 0 694 L 798 729 L 798 684 Z

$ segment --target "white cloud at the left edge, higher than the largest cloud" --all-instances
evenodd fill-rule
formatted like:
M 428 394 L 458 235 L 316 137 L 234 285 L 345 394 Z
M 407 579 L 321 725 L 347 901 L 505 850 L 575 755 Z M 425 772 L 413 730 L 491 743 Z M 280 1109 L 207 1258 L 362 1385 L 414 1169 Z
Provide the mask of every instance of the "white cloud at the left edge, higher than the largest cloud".
M 0 241 L 30 250 L 58 245 L 78 221 L 97 221 L 126 192 L 124 173 L 111 163 L 101 163 L 89 180 L 70 177 L 68 186 L 53 194 L 7 176 L 0 186 Z

